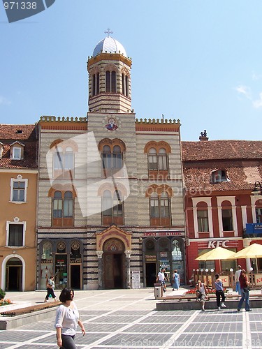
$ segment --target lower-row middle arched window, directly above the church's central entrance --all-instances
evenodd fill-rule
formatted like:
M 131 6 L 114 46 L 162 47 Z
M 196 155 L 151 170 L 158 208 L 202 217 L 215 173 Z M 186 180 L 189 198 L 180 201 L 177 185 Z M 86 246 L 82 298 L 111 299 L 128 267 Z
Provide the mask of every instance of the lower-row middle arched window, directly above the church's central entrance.
M 103 225 L 110 225 L 115 223 L 117 225 L 124 224 L 124 203 L 122 202 L 122 193 L 118 189 L 113 193 L 109 190 L 103 192 L 102 198 L 102 223 Z

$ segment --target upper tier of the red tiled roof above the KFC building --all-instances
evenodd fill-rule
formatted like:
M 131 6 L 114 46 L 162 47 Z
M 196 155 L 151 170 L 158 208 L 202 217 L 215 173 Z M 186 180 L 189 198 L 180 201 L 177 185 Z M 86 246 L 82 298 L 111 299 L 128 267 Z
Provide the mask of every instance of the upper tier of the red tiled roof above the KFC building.
M 182 142 L 183 161 L 255 158 L 262 158 L 262 141 L 208 140 Z

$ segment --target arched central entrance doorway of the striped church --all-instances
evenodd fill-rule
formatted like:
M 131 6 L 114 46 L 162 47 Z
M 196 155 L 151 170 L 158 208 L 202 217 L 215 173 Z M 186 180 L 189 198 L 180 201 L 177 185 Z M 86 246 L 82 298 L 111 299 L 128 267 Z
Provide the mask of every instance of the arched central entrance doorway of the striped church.
M 125 262 L 122 241 L 115 238 L 106 240 L 103 244 L 103 284 L 106 290 L 124 288 Z

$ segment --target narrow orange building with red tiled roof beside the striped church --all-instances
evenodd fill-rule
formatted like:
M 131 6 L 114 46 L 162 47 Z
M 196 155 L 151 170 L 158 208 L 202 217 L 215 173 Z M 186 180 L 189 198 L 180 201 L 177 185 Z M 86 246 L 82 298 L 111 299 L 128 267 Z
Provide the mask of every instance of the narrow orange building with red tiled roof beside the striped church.
M 0 287 L 36 289 L 36 125 L 0 125 Z

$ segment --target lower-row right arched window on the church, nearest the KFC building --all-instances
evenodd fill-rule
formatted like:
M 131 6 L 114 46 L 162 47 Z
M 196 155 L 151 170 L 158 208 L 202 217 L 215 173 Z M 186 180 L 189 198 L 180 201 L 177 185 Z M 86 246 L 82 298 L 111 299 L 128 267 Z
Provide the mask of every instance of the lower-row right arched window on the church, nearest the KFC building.
M 150 225 L 170 226 L 170 198 L 166 191 L 150 195 Z

